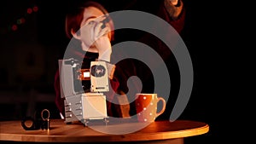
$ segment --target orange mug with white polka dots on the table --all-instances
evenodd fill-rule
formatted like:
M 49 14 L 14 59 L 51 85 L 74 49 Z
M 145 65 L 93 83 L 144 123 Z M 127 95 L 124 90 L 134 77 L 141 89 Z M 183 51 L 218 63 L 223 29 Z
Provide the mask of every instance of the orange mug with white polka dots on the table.
M 159 111 L 158 102 L 162 101 L 163 106 Z M 166 110 L 166 101 L 157 94 L 136 94 L 136 110 L 138 122 L 154 122 L 155 118 L 160 116 Z

